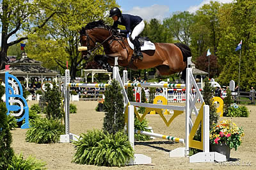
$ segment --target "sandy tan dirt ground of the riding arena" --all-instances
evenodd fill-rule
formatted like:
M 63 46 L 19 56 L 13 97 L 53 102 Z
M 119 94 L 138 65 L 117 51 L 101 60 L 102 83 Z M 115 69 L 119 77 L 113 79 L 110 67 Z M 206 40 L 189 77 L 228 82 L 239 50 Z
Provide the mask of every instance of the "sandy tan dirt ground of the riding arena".
M 29 105 L 36 102 L 29 102 Z M 77 114 L 70 115 L 70 132 L 73 134 L 86 133 L 93 128 L 101 129 L 103 125 L 104 112 L 96 112 L 97 102 L 81 101 L 72 102 L 77 105 Z M 177 104 L 175 104 L 177 105 Z M 182 104 L 181 104 L 182 105 Z M 184 105 L 184 104 L 183 104 Z M 169 158 L 169 151 L 184 147 L 184 144 L 154 139 L 146 142 L 135 143 L 135 153 L 141 153 L 152 158 L 150 166 L 126 166 L 121 169 L 256 169 L 255 136 L 256 129 L 256 106 L 247 105 L 250 111 L 249 118 L 232 118 L 238 127 L 243 127 L 243 143 L 238 150 L 231 150 L 230 162 L 226 164 L 218 163 L 189 163 L 189 158 Z M 170 117 L 170 116 L 169 116 Z M 154 132 L 175 137 L 185 136 L 185 115 L 181 114 L 172 122 L 170 127 L 166 127 L 161 117 L 157 114 L 146 116 L 150 127 Z M 166 115 L 168 118 L 168 115 Z M 223 120 L 225 118 L 220 118 Z M 227 118 L 226 118 L 227 119 Z M 230 118 L 228 118 L 230 119 Z M 57 144 L 35 144 L 26 143 L 26 130 L 17 128 L 12 130 L 12 147 L 15 153 L 22 152 L 24 158 L 29 155 L 43 160 L 47 163 L 47 169 L 117 169 L 118 167 L 98 167 L 79 165 L 72 163 L 72 155 L 76 152 L 74 145 L 69 143 Z M 246 166 L 246 164 L 248 166 Z

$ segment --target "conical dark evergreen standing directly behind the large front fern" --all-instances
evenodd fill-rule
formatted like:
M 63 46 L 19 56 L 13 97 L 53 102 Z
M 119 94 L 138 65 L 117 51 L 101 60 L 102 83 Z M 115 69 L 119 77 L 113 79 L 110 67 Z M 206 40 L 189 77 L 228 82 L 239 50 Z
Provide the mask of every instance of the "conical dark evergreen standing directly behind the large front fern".
M 115 79 L 113 79 L 111 81 L 111 84 L 106 88 L 104 95 L 104 132 L 108 132 L 109 134 L 115 134 L 118 131 L 123 131 L 125 123 L 124 99 L 121 93 L 121 87 Z

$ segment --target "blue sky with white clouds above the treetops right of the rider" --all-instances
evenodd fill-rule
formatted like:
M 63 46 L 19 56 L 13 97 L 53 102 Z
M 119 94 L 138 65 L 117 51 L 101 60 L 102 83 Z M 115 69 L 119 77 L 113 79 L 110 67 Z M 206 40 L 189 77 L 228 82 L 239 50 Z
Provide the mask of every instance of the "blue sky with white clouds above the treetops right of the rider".
M 219 3 L 231 3 L 232 0 L 212 0 Z M 209 4 L 210 0 L 116 0 L 122 13 L 139 15 L 144 20 L 163 20 L 170 17 L 173 12 L 188 11 L 191 13 L 199 10 L 204 4 Z

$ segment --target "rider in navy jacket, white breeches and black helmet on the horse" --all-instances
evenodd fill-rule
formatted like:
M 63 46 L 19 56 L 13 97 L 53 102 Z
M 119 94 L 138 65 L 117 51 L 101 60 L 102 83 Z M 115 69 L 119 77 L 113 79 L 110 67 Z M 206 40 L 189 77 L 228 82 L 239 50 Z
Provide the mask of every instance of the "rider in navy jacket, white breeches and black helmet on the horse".
M 117 7 L 112 8 L 109 11 L 109 17 L 112 17 L 114 20 L 112 27 L 115 28 L 118 33 L 131 34 L 131 38 L 134 43 L 134 56 L 138 56 L 140 59 L 143 59 L 143 54 L 140 51 L 140 42 L 138 40 L 138 35 L 140 35 L 145 27 L 143 19 L 135 15 L 122 14 Z M 125 30 L 117 29 L 118 24 L 125 26 Z

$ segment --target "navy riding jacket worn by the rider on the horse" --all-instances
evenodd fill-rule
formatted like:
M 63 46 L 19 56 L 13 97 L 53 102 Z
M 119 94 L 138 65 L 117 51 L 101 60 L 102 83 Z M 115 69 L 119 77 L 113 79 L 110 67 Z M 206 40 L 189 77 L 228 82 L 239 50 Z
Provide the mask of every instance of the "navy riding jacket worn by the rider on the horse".
M 134 16 L 129 14 L 122 14 L 120 19 L 121 19 L 121 22 L 119 22 L 118 20 L 114 22 L 113 28 L 117 28 L 118 24 L 125 26 L 125 30 L 120 31 L 120 33 L 124 33 L 124 34 L 131 33 L 134 27 L 136 27 L 141 22 L 141 20 L 143 20 L 139 16 Z

